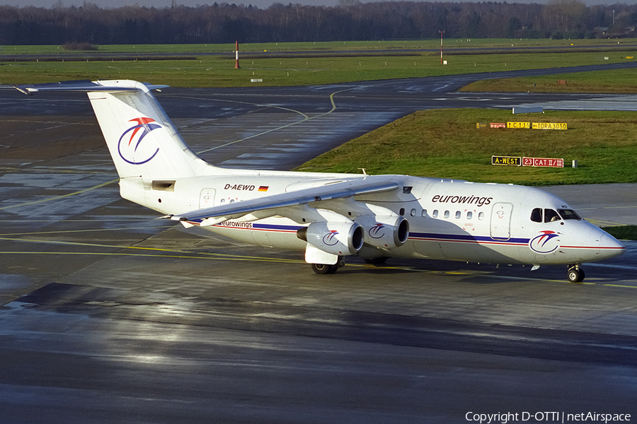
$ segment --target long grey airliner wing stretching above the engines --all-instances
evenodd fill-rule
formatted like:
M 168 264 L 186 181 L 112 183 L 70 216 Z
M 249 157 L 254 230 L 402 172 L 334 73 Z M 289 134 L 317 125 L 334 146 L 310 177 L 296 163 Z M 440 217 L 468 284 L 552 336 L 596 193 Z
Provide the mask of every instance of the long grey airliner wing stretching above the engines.
M 277 209 L 277 213 L 272 213 L 270 216 L 275 214 L 284 215 L 285 210 L 284 213 L 281 213 L 281 208 L 312 204 L 319 201 L 344 199 L 361 194 L 390 192 L 397 188 L 398 184 L 392 181 L 390 176 L 366 177 L 351 179 L 345 182 L 326 184 L 320 187 L 301 189 L 294 192 L 259 197 L 257 199 L 238 201 L 232 204 L 213 206 L 212 208 L 198 209 L 195 211 L 173 215 L 170 218 L 172 220 L 180 221 L 204 220 L 211 218 L 208 220 L 207 225 L 214 225 L 215 223 L 221 223 L 225 220 L 245 216 L 248 213 Z M 265 216 L 268 216 L 268 213 L 261 214 L 260 218 Z

